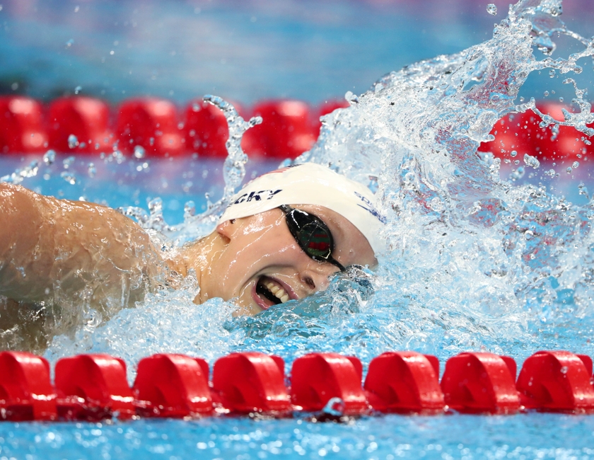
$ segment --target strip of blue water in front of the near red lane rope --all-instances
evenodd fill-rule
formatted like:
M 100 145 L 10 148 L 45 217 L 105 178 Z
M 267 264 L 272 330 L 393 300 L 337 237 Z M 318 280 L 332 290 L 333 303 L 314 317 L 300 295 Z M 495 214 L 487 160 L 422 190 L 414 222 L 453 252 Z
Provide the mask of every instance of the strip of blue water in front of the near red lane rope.
M 7 424 L 4 458 L 18 459 L 590 459 L 586 416 L 305 420 L 139 420 L 114 425 Z

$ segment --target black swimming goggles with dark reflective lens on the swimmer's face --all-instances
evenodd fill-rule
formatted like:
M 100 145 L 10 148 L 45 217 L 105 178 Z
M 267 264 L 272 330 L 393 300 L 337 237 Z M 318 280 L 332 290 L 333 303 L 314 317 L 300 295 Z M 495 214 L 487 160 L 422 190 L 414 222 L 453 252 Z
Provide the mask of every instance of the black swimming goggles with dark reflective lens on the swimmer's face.
M 286 225 L 305 254 L 318 262 L 330 262 L 341 272 L 346 270 L 332 257 L 334 238 L 328 226 L 319 217 L 287 205 L 281 205 L 279 209 L 284 212 Z

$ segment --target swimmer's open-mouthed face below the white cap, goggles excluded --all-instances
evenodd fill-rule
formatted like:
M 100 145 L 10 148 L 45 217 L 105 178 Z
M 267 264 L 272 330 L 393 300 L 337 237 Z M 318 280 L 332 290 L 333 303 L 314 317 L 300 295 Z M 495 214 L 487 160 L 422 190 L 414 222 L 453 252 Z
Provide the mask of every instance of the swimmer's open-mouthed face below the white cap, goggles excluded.
M 340 214 L 321 206 L 293 206 L 314 214 L 334 238 L 332 257 L 344 267 L 377 263 L 367 239 Z M 240 314 L 254 315 L 275 304 L 322 291 L 339 269 L 310 258 L 298 245 L 280 209 L 226 221 L 216 231 L 225 241 L 211 261 L 201 289 L 207 297 L 235 299 Z

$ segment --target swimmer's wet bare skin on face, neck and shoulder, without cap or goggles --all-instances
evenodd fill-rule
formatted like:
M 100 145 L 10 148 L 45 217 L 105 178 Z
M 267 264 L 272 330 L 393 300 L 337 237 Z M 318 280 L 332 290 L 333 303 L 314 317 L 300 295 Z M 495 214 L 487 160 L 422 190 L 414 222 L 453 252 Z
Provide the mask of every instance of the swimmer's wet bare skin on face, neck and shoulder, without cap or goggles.
M 368 241 L 347 219 L 324 207 L 293 207 L 327 224 L 339 263 L 375 265 Z M 107 321 L 190 270 L 200 286 L 195 303 L 221 297 L 247 315 L 326 289 L 338 270 L 303 252 L 280 209 L 222 222 L 174 257 L 115 209 L 15 185 L 0 183 L 0 223 L 0 348 L 42 350 L 51 335 L 84 321 L 83 306 Z

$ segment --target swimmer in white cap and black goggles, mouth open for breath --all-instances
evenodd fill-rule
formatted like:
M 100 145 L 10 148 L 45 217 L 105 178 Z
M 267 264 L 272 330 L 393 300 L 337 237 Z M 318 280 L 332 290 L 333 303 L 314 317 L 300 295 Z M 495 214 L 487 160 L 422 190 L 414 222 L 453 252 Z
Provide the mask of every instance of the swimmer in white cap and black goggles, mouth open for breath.
M 85 321 L 84 306 L 108 318 L 190 273 L 196 304 L 220 297 L 257 314 L 326 289 L 349 265 L 373 267 L 381 245 L 373 193 L 313 163 L 252 180 L 211 234 L 172 253 L 115 209 L 5 183 L 0 222 L 3 348 L 43 348 Z

